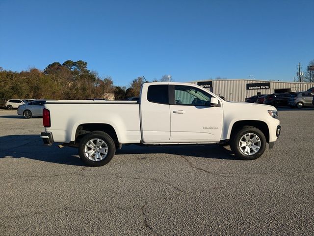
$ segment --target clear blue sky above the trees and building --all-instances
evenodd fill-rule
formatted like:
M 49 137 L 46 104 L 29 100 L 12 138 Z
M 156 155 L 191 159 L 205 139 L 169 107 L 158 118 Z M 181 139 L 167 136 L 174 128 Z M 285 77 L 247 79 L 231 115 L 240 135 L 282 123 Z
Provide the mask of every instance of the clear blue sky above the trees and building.
M 0 0 L 0 66 L 84 60 L 127 86 L 144 74 L 293 81 L 314 59 L 314 0 Z

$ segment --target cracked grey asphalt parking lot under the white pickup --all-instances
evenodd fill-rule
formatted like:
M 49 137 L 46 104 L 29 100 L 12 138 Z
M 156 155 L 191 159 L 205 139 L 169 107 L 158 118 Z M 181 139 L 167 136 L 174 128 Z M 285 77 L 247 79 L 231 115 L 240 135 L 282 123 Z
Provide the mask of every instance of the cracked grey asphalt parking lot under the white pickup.
M 0 110 L 0 235 L 313 235 L 314 108 L 279 118 L 280 139 L 254 161 L 131 145 L 93 168 L 42 146 L 41 118 Z

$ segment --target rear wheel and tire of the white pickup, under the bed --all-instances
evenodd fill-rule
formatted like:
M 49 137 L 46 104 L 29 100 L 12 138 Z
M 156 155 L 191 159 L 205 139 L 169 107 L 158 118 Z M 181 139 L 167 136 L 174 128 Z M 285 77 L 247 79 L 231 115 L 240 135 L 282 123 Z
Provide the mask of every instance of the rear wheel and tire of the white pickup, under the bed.
M 111 161 L 115 152 L 112 138 L 103 131 L 84 135 L 78 145 L 79 157 L 87 166 L 104 166 Z

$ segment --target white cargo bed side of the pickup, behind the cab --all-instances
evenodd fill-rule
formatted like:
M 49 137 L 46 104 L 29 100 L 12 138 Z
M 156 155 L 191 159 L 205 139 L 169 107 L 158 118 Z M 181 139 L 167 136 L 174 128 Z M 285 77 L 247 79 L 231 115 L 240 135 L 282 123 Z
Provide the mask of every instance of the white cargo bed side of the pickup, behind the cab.
M 140 143 L 139 103 L 136 101 L 102 100 L 50 100 L 45 104 L 50 110 L 54 142 L 70 143 L 75 140 L 76 127 L 81 124 L 109 124 L 122 143 Z

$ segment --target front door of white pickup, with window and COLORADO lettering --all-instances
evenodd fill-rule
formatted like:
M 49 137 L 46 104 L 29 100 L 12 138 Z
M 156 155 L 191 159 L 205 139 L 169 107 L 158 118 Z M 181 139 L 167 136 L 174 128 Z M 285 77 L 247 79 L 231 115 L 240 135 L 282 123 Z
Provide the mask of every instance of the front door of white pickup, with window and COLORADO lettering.
M 210 106 L 210 93 L 193 86 L 170 86 L 172 142 L 218 141 L 222 134 L 223 109 Z M 173 90 L 172 90 L 173 91 Z M 174 93 L 174 94 L 173 94 Z

